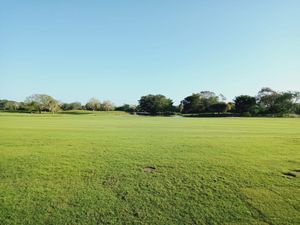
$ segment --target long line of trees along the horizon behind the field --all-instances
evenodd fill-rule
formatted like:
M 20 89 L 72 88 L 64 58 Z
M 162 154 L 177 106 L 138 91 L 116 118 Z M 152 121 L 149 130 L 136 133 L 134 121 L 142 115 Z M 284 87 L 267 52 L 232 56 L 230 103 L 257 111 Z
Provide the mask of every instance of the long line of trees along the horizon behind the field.
M 61 103 L 46 94 L 34 94 L 24 102 L 0 100 L 0 110 L 31 113 L 68 110 L 125 111 L 141 115 L 173 115 L 180 113 L 194 116 L 268 116 L 300 114 L 300 92 L 278 92 L 262 88 L 256 96 L 240 95 L 232 102 L 226 102 L 224 95 L 211 91 L 200 91 L 185 97 L 179 105 L 164 95 L 142 96 L 138 105 L 124 104 L 116 107 L 110 101 L 91 98 L 86 104 L 80 102 Z

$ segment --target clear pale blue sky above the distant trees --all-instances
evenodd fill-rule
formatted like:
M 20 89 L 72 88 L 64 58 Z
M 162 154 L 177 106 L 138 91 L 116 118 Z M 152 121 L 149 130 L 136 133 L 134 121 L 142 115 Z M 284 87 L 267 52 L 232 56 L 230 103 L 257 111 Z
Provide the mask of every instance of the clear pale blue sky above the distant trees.
M 299 0 L 3 0 L 0 99 L 300 89 Z

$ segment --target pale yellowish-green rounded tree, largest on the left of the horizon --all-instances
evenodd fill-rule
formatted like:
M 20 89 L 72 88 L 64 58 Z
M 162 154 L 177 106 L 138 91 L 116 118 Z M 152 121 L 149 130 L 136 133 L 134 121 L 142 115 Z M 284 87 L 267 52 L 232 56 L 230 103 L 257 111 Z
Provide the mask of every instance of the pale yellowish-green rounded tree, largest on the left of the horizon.
M 26 98 L 25 104 L 30 111 L 48 111 L 55 113 L 59 109 L 58 101 L 49 95 L 34 94 Z

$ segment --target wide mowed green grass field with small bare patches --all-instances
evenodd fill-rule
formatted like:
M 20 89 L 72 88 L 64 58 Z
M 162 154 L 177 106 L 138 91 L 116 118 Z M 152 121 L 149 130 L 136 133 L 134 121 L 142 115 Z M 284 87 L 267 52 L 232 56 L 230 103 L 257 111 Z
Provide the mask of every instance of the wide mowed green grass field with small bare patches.
M 0 224 L 299 224 L 299 169 L 300 119 L 0 113 Z

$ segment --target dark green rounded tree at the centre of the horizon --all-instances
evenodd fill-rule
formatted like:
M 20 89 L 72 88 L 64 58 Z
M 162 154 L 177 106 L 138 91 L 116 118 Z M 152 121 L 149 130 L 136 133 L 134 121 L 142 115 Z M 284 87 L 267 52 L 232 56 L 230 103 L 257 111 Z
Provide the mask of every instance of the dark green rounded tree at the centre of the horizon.
M 151 115 L 173 111 L 173 101 L 164 95 L 146 95 L 139 100 L 139 109 Z

